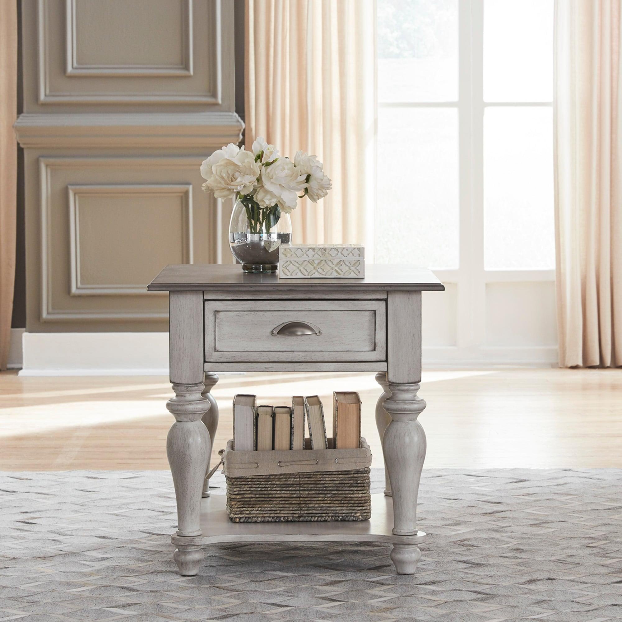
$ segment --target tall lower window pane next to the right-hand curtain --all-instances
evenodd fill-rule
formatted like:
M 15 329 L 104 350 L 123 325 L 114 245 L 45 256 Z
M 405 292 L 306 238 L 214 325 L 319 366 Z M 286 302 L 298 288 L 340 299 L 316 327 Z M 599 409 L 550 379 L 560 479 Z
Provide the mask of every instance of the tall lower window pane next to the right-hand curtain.
M 555 267 L 551 108 L 486 108 L 484 264 Z

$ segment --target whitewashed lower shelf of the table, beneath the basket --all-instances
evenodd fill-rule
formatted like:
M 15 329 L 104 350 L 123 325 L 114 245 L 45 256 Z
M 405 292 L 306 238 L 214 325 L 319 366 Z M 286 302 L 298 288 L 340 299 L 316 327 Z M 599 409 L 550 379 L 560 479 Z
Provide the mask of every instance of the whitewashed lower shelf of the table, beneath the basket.
M 171 537 L 173 544 L 207 545 L 221 542 L 387 542 L 420 544 L 425 534 L 394 536 L 393 503 L 384 494 L 371 495 L 369 521 L 327 522 L 232 522 L 227 516 L 226 496 L 213 494 L 201 503 L 201 536 Z

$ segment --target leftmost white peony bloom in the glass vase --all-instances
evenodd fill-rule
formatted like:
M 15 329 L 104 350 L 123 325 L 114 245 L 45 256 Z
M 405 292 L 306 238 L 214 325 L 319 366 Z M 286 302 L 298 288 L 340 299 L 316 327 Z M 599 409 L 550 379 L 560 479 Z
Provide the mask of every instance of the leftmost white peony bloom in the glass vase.
M 253 192 L 261 167 L 250 151 L 233 143 L 213 152 L 201 165 L 201 175 L 207 181 L 203 190 L 211 190 L 216 198 Z

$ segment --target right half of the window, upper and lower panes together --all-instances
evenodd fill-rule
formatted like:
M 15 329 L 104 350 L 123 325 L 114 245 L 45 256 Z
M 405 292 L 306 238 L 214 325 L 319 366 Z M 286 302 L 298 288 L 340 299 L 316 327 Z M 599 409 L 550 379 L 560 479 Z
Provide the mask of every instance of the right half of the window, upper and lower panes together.
M 485 0 L 484 266 L 555 267 L 553 2 Z

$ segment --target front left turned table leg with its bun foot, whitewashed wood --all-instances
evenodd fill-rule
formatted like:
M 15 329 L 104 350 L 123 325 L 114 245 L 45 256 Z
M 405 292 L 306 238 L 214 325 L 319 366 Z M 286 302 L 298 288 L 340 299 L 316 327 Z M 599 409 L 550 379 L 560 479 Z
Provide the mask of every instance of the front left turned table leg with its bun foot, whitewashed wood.
M 200 536 L 200 511 L 203 481 L 211 453 L 211 440 L 201 418 L 210 407 L 202 396 L 203 383 L 173 384 L 175 397 L 167 409 L 175 423 L 166 439 L 166 454 L 177 499 L 177 535 Z M 195 575 L 203 560 L 200 547 L 179 545 L 173 555 L 184 575 Z

